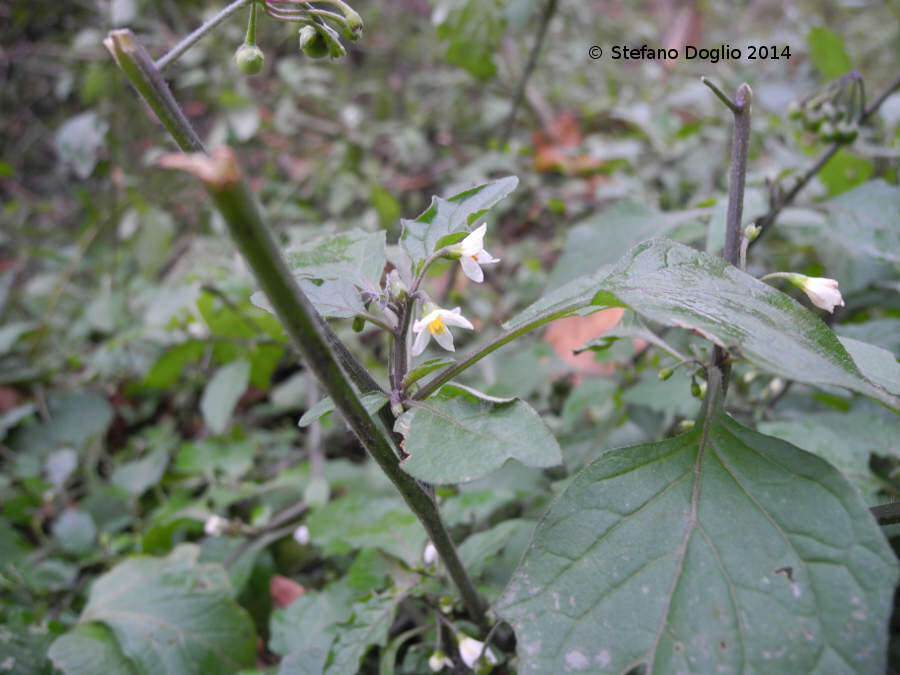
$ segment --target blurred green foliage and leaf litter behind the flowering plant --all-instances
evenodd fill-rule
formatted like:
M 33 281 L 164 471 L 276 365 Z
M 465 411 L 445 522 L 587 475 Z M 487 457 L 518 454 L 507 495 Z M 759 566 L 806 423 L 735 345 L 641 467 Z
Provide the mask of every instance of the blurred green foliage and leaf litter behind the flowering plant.
M 261 669 L 309 620 L 313 600 L 289 602 L 302 589 L 334 609 L 322 621 L 335 623 L 354 592 L 422 565 L 418 524 L 342 425 L 325 418 L 297 430 L 318 400 L 315 385 L 274 318 L 250 303 L 253 281 L 205 195 L 156 168 L 174 146 L 101 45 L 109 29 L 129 26 L 158 56 L 218 6 L 0 6 L 0 623 L 12 636 L 0 640 L 0 668 L 49 669 L 46 648 L 75 623 L 91 582 L 132 553 L 195 542 L 200 561 L 224 561 L 227 602 L 252 617 L 260 641 L 249 652 Z M 264 70 L 246 77 L 232 59 L 245 31 L 235 17 L 166 76 L 207 144 L 238 149 L 286 246 L 354 227 L 384 228 L 391 242 L 400 218 L 432 194 L 517 175 L 518 190 L 489 216 L 488 248 L 502 263 L 486 283 L 469 285 L 449 264 L 429 279 L 442 304 L 464 304 L 488 334 L 545 289 L 642 239 L 720 245 L 730 116 L 701 75 L 754 89 L 749 220 L 768 208 L 767 182 L 788 183 L 829 145 L 787 120 L 789 103 L 849 68 L 871 96 L 896 77 L 900 52 L 898 3 L 559 3 L 510 122 L 544 3 L 355 7 L 365 32 L 340 61 L 309 59 L 294 27 L 262 17 Z M 609 48 L 622 43 L 775 44 L 790 59 L 612 61 Z M 591 45 L 604 57 L 592 60 Z M 898 153 L 894 94 L 748 265 L 756 275 L 839 279 L 847 305 L 825 319 L 895 355 L 897 251 L 861 251 L 825 225 L 829 198 L 874 178 L 896 184 Z M 566 461 L 554 471 L 509 464 L 440 493 L 491 599 L 572 472 L 607 448 L 676 433 L 697 411 L 690 369 L 660 381 L 673 359 L 633 332 L 572 354 L 617 311 L 554 324 L 465 377 L 491 394 L 529 397 Z M 336 328 L 385 380 L 383 336 Z M 459 336 L 459 347 L 478 339 Z M 697 357 L 705 349 L 686 333 L 666 340 Z M 730 396 L 744 422 L 829 459 L 872 504 L 897 494 L 893 415 L 845 391 L 746 367 L 738 376 Z M 204 533 L 212 514 L 229 519 L 224 536 Z M 301 524 L 305 543 L 291 537 Z M 478 538 L 491 528 L 503 535 Z M 417 589 L 421 598 L 448 592 L 434 579 Z M 401 607 L 380 644 L 417 611 Z M 421 672 L 426 647 L 403 646 L 401 672 Z

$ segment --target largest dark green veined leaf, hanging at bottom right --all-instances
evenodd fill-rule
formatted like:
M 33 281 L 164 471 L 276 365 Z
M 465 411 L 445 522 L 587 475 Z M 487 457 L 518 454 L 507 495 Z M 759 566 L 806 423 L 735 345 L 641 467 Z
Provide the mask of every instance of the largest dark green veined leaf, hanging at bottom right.
M 826 462 L 711 412 L 605 453 L 501 598 L 519 672 L 883 672 L 897 563 Z

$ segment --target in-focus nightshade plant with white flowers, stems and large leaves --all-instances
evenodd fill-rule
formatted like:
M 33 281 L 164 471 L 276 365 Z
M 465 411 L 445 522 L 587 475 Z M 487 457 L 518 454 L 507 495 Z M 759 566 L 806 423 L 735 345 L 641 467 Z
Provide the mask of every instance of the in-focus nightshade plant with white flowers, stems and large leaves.
M 362 22 L 346 3 L 330 4 L 337 11 L 300 2 L 232 3 L 155 63 L 130 31 L 113 31 L 106 40 L 185 153 L 167 155 L 160 164 L 202 181 L 259 283 L 254 303 L 278 317 L 327 392 L 301 425 L 337 410 L 427 535 L 427 545 L 413 535 L 421 546 L 404 561 L 388 591 L 343 596 L 349 611 L 311 604 L 305 616 L 320 634 L 286 654 L 282 672 L 354 673 L 371 645 L 387 644 L 401 603 L 419 598 L 427 605 L 428 598 L 441 595 L 446 601 L 430 608 L 439 626 L 429 633 L 434 640 L 429 664 L 435 670 L 462 663 L 488 671 L 505 661 L 517 672 L 535 674 L 883 671 L 897 565 L 875 518 L 834 467 L 746 428 L 727 411 L 726 394 L 739 363 L 791 381 L 848 389 L 900 409 L 900 368 L 889 353 L 838 338 L 813 310 L 744 271 L 751 245 L 815 173 L 790 191 L 773 188 L 769 212 L 742 229 L 749 86 L 741 85 L 732 99 L 707 82 L 734 116 L 722 258 L 672 240 L 643 241 L 611 267 L 548 293 L 459 360 L 443 353 L 421 360 L 432 338 L 454 351 L 451 329 L 475 330 L 464 307 L 441 307 L 429 294 L 429 269 L 449 258 L 474 282 L 493 273 L 497 268 L 482 266 L 498 262 L 486 248 L 499 242 L 481 220 L 518 180 L 499 178 L 449 198 L 434 197 L 422 214 L 402 222 L 397 245 L 388 246 L 384 232 L 352 230 L 306 242 L 285 256 L 262 220 L 234 151 L 206 152 L 160 75 L 193 42 L 248 5 L 250 28 L 240 49 L 259 49 L 254 34 L 259 5 L 272 18 L 300 24 L 308 55 L 338 57 L 341 34 L 356 39 Z M 864 122 L 885 96 L 868 108 L 857 105 L 851 121 Z M 851 140 L 848 133 L 835 142 Z M 872 238 L 890 241 L 900 191 L 887 183 L 866 190 L 862 199 L 875 210 L 867 216 L 875 223 Z M 791 272 L 769 276 L 800 284 L 819 307 L 842 304 L 831 280 Z M 528 403 L 488 396 L 456 379 L 540 326 L 609 308 L 628 313 L 610 336 L 644 339 L 675 354 L 675 367 L 689 367 L 704 381 L 695 387 L 702 392 L 700 412 L 685 433 L 610 449 L 572 476 L 535 529 L 502 596 L 489 607 L 471 574 L 478 546 L 465 552 L 456 546 L 435 486 L 483 478 L 510 459 L 557 467 L 563 454 Z M 390 343 L 387 383 L 376 381 L 326 319 L 352 319 L 356 326 L 383 331 Z M 662 335 L 675 327 L 694 331 L 707 348 L 697 358 L 679 354 Z M 608 344 L 586 346 L 603 347 Z M 668 377 L 672 369 L 660 374 Z M 226 527 L 213 524 L 216 532 Z M 311 530 L 315 534 L 315 523 L 302 536 L 308 538 Z M 421 532 L 418 526 L 413 531 Z M 504 536 L 488 534 L 494 540 Z M 491 543 L 482 546 L 487 550 Z M 142 591 L 138 597 L 159 622 L 136 620 L 128 608 L 134 599 L 122 589 L 146 588 L 142 584 L 173 574 L 184 579 L 178 592 L 154 597 Z M 452 587 L 441 585 L 444 575 Z M 54 643 L 51 658 L 65 672 L 85 672 L 84 649 L 103 650 L 95 652 L 95 665 L 115 672 L 248 667 L 254 656 L 252 641 L 247 646 L 252 628 L 231 604 L 226 586 L 221 567 L 198 564 L 189 545 L 165 559 L 128 560 L 97 581 L 79 626 Z M 163 620 L 172 605 L 183 621 L 176 627 Z M 319 610 L 333 616 L 317 618 Z M 215 612 L 222 617 L 219 625 L 187 630 L 192 617 Z M 387 672 L 393 671 L 390 657 L 397 649 L 424 639 L 430 623 L 429 615 L 394 636 L 394 646 L 383 651 Z M 189 638 L 176 644 L 182 628 Z

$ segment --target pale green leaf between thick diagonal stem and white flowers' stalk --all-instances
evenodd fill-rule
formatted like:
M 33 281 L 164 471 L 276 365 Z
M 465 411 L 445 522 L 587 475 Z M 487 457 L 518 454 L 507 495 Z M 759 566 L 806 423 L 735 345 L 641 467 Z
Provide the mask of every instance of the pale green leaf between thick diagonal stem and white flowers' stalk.
M 347 279 L 377 292 L 384 272 L 385 232 L 349 230 L 285 252 L 295 276 L 304 279 Z

